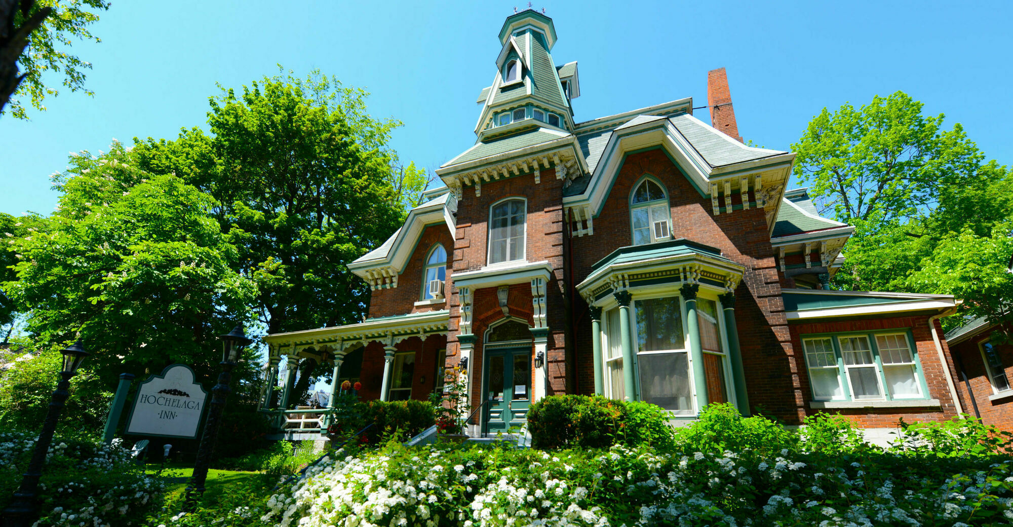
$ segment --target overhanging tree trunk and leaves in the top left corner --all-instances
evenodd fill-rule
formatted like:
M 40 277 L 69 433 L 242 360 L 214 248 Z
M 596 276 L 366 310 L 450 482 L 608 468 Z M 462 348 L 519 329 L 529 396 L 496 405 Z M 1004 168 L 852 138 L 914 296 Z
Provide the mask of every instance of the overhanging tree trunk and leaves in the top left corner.
M 45 110 L 46 96 L 59 94 L 44 82 L 47 72 L 62 72 L 64 86 L 92 95 L 84 87 L 84 70 L 91 69 L 91 63 L 65 49 L 74 37 L 101 42 L 88 25 L 98 21 L 93 11 L 107 10 L 109 5 L 105 0 L 0 0 L 0 115 L 9 104 L 15 118 L 27 119 L 20 99 L 12 98 L 23 95 Z

